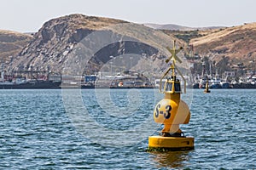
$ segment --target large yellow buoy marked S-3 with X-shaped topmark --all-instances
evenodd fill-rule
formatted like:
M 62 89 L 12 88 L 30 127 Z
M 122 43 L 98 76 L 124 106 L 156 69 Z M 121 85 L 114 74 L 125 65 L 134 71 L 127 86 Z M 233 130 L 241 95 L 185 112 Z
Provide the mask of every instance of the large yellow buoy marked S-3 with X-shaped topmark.
M 175 49 L 174 42 L 173 49 L 167 49 L 172 53 L 172 56 L 169 59 L 166 59 L 166 63 L 168 63 L 170 59 L 173 60 L 173 63 L 160 78 L 160 92 L 162 90 L 161 82 L 171 70 L 172 77 L 166 79 L 163 90 L 165 98 L 160 100 L 154 109 L 154 122 L 164 124 L 164 128 L 162 129 L 160 136 L 148 137 L 148 150 L 192 150 L 194 149 L 194 138 L 186 137 L 179 128 L 180 124 L 187 124 L 190 119 L 189 106 L 180 99 L 180 81 L 175 75 L 175 70 L 177 70 L 175 62 L 176 60 L 181 62 L 176 54 L 182 48 Z M 183 77 L 180 71 L 178 71 L 178 73 Z M 184 78 L 183 81 L 185 93 L 186 82 Z

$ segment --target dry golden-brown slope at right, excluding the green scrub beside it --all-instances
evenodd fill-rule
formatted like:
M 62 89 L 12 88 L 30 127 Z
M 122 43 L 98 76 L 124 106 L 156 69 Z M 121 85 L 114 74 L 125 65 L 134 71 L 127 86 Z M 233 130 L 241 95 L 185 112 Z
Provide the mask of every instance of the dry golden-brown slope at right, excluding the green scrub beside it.
M 204 37 L 190 41 L 196 54 L 212 56 L 218 64 L 228 59 L 230 65 L 243 63 L 248 69 L 256 61 L 256 23 L 220 29 Z

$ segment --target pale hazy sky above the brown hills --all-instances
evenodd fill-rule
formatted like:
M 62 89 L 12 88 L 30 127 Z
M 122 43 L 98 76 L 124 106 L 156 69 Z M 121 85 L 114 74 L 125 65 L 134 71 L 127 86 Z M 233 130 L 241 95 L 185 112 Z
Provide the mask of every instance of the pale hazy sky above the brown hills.
M 135 23 L 238 26 L 256 21 L 256 0 L 2 0 L 0 29 L 38 31 L 67 15 L 104 16 Z

